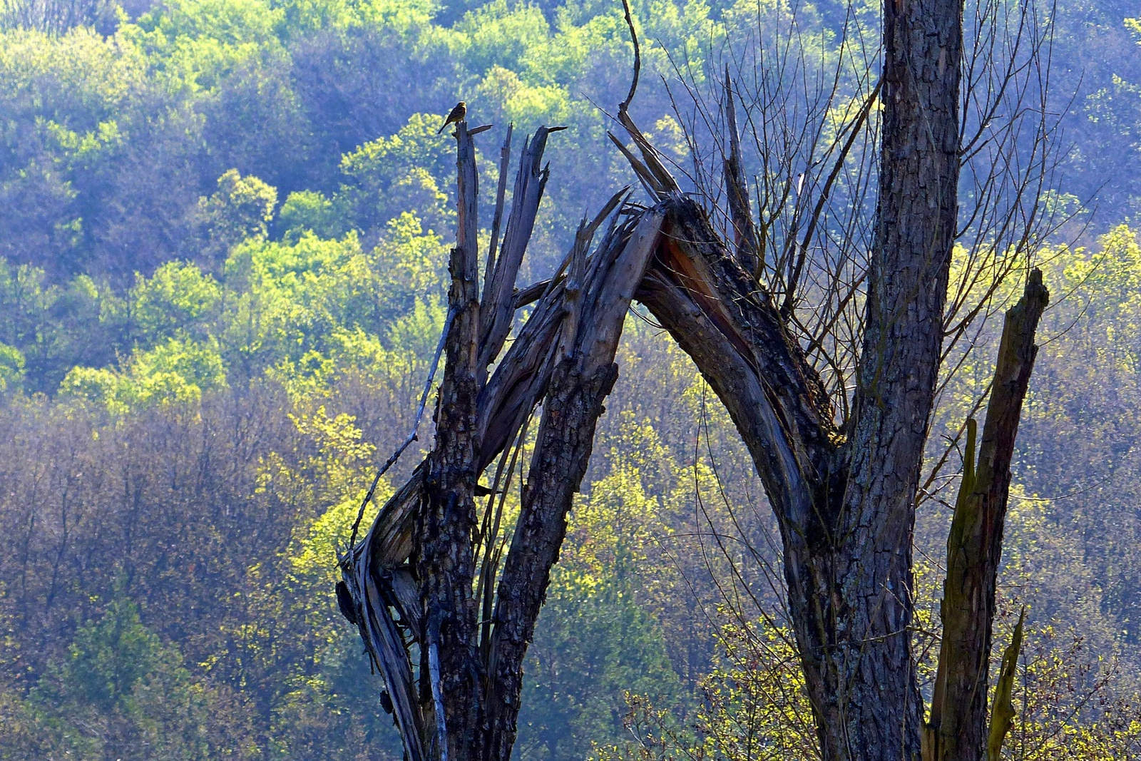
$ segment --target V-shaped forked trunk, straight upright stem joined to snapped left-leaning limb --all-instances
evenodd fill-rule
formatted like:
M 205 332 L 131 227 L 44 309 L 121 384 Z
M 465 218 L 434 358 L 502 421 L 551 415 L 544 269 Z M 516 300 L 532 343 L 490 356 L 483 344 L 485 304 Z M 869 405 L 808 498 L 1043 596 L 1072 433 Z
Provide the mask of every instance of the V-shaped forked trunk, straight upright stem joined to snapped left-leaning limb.
M 770 296 L 696 208 L 667 219 L 641 294 L 728 407 L 777 511 L 828 760 L 916 759 L 923 726 L 912 532 L 958 209 L 962 2 L 885 2 L 884 43 L 877 238 L 844 429 Z

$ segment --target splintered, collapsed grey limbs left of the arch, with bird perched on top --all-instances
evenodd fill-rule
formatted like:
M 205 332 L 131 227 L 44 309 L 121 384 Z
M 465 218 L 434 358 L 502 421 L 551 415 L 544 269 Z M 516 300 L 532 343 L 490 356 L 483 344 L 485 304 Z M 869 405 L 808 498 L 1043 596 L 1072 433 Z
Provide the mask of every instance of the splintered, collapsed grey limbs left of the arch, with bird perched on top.
M 341 560 L 348 617 L 385 678 L 410 761 L 510 756 L 523 658 L 602 400 L 617 375 L 614 354 L 625 313 L 661 225 L 654 213 L 612 216 L 622 196 L 615 195 L 592 221 L 583 220 L 559 276 L 517 290 L 548 178 L 542 156 L 555 131 L 540 128 L 525 141 L 503 245 L 488 251 L 480 293 L 472 141 L 478 131 L 462 121 L 455 131 L 459 232 L 435 445 Z M 502 187 L 501 179 L 496 220 Z M 531 316 L 504 351 L 521 303 L 532 305 Z M 503 460 L 512 453 L 513 463 L 521 431 L 540 404 L 520 513 L 503 556 L 503 503 L 496 507 L 495 499 L 507 488 L 500 483 Z M 496 456 L 492 496 L 480 516 L 476 485 Z

